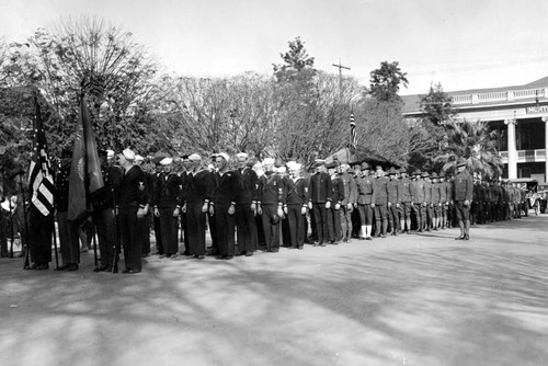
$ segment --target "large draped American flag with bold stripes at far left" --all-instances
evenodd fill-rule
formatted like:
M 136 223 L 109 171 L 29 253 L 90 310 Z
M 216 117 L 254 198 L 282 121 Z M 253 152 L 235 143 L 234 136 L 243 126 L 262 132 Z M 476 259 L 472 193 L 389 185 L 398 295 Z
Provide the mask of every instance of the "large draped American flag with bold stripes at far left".
M 28 187 L 32 193 L 31 203 L 42 215 L 48 216 L 54 211 L 54 178 L 52 176 L 52 165 L 47 156 L 46 135 L 42 124 L 42 115 L 37 99 L 34 99 L 36 105 L 36 116 L 33 124 L 33 158 L 28 169 Z

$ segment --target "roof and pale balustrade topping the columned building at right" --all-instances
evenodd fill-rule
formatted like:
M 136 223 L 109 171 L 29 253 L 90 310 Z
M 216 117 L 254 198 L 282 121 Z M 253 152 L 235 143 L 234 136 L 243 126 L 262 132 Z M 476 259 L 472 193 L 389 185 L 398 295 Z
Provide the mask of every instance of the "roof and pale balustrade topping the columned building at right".
M 502 88 L 486 88 L 486 89 L 468 89 L 468 90 L 458 90 L 458 91 L 445 91 L 447 94 L 454 98 L 454 104 L 458 108 L 461 105 L 488 105 L 488 104 L 509 104 L 514 101 L 507 100 L 505 98 L 501 98 L 501 95 L 495 96 L 495 93 L 506 93 L 507 91 L 523 91 L 523 90 L 535 90 L 535 89 L 545 89 L 548 88 L 548 77 L 532 81 L 524 85 L 512 85 L 512 87 L 502 87 Z M 482 94 L 487 98 L 482 98 L 478 100 L 476 103 L 471 102 L 471 95 Z M 492 94 L 494 98 L 489 98 L 489 94 Z M 523 93 L 524 95 L 520 96 L 522 101 L 534 101 L 536 98 L 547 99 L 548 94 L 545 94 L 544 90 L 539 91 L 537 94 L 535 92 L 532 93 Z M 403 114 L 416 114 L 421 112 L 421 99 L 426 95 L 424 94 L 413 94 L 413 95 L 401 95 L 401 100 L 403 101 L 403 106 L 401 112 Z M 469 99 L 470 102 L 457 102 L 455 96 L 458 96 L 458 101 L 464 99 Z M 514 102 L 515 103 L 515 102 Z

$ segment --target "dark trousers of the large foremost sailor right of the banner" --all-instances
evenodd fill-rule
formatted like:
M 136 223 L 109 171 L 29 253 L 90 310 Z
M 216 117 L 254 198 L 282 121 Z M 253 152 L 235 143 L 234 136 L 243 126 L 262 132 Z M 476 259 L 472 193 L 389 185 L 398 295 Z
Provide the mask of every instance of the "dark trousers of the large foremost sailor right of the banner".
M 140 271 L 141 259 L 141 229 L 137 218 L 137 203 L 121 204 L 118 208 L 119 235 L 124 247 L 124 264 L 126 270 Z

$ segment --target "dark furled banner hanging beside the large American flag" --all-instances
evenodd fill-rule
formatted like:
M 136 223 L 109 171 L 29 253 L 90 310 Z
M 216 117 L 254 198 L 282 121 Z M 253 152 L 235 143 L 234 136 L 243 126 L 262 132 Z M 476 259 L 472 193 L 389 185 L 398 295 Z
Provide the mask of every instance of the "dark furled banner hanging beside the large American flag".
M 103 185 L 103 173 L 101 172 L 95 135 L 91 126 L 90 111 L 85 98 L 82 96 L 70 165 L 67 218 L 71 221 L 83 220 L 88 215 L 89 194 Z

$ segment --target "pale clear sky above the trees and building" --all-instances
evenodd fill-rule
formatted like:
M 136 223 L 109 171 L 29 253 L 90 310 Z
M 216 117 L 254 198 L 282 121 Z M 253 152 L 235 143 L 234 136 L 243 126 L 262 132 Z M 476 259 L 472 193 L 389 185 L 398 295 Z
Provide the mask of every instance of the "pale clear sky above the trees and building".
M 315 67 L 369 84 L 398 61 L 400 94 L 522 85 L 548 76 L 546 0 L 0 0 L 0 38 L 22 42 L 67 16 L 134 34 L 168 72 L 272 73 L 299 36 Z

